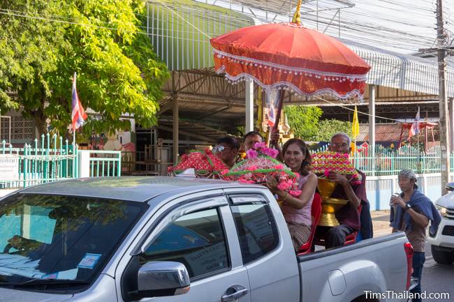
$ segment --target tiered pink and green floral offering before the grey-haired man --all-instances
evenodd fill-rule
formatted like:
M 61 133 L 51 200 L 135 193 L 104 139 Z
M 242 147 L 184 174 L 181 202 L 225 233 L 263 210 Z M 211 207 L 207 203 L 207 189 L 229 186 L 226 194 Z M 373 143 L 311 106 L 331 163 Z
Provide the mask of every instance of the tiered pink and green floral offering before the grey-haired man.
M 351 164 L 348 154 L 323 151 L 312 156 L 312 172 L 318 178 L 328 179 L 330 172 L 343 174 L 353 185 L 361 183 L 361 175 Z

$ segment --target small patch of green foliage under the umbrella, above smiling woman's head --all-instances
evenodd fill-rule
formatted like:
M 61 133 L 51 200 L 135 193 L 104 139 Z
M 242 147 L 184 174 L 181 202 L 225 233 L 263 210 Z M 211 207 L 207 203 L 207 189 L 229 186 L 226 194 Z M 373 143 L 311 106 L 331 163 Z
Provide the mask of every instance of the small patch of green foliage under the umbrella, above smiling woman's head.
M 318 107 L 295 105 L 284 107 L 284 111 L 295 137 L 313 141 L 318 132 L 318 119 L 323 111 Z

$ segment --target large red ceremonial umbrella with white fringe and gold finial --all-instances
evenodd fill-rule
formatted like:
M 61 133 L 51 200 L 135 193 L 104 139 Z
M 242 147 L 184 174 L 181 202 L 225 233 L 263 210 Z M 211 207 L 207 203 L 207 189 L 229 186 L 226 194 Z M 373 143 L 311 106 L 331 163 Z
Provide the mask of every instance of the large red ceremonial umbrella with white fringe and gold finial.
M 212 38 L 217 73 L 226 73 L 234 83 L 254 80 L 265 91 L 362 98 L 370 66 L 335 38 L 303 27 L 300 4 L 293 22 L 244 27 Z

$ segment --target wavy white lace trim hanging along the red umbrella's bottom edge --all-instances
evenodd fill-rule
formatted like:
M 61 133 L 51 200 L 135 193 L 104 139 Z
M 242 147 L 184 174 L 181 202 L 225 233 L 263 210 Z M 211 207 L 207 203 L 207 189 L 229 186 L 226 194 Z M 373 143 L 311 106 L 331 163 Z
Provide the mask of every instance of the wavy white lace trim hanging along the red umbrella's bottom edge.
M 221 73 L 226 73 L 226 70 L 223 67 L 219 68 L 216 70 L 216 73 L 221 74 Z M 360 103 L 363 103 L 363 93 L 360 92 L 359 89 L 353 89 L 352 91 L 349 91 L 345 95 L 340 95 L 335 91 L 334 89 L 330 88 L 325 88 L 325 89 L 319 89 L 315 91 L 314 93 L 307 93 L 304 91 L 301 91 L 297 86 L 294 84 L 291 84 L 289 82 L 277 82 L 272 85 L 266 85 L 263 84 L 260 80 L 258 80 L 256 77 L 253 75 L 249 75 L 247 73 L 240 73 L 240 75 L 237 75 L 236 77 L 233 77 L 232 75 L 229 75 L 226 73 L 226 80 L 231 82 L 232 84 L 238 84 L 239 82 L 242 82 L 244 80 L 249 80 L 249 81 L 254 81 L 258 86 L 261 86 L 263 89 L 269 90 L 269 89 L 283 89 L 283 90 L 288 90 L 290 92 L 294 92 L 296 94 L 300 94 L 302 96 L 307 96 L 307 97 L 316 97 L 316 96 L 334 96 L 335 98 L 339 100 L 348 100 L 348 99 L 358 99 Z M 288 89 L 290 88 L 290 89 Z

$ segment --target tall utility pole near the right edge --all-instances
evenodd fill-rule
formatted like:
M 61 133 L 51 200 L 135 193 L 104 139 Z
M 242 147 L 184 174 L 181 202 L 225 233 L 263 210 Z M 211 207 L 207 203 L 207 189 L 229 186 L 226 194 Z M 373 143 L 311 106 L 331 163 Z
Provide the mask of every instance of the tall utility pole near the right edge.
M 446 34 L 444 32 L 443 0 L 437 0 L 437 53 L 441 146 L 441 192 L 446 194 L 446 183 L 451 171 L 451 144 L 449 143 L 448 96 L 446 94 Z

